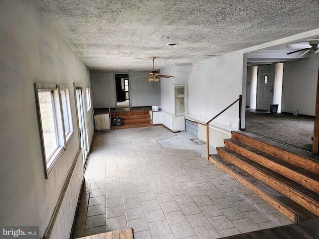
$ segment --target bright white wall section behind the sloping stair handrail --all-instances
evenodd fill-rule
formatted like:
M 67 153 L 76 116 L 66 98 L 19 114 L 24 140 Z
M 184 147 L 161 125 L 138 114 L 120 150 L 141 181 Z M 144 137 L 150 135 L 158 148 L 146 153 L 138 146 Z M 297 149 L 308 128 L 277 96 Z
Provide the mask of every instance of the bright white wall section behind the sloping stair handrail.
M 246 84 L 244 68 L 247 68 L 244 54 L 194 64 L 188 81 L 188 116 L 207 122 L 234 102 L 243 93 L 243 82 Z M 243 105 L 245 108 L 245 98 Z M 237 103 L 211 123 L 211 127 L 220 129 L 211 135 L 214 146 L 223 143 L 225 132 L 238 130 L 238 109 Z M 198 137 L 206 140 L 205 133 L 199 132 Z

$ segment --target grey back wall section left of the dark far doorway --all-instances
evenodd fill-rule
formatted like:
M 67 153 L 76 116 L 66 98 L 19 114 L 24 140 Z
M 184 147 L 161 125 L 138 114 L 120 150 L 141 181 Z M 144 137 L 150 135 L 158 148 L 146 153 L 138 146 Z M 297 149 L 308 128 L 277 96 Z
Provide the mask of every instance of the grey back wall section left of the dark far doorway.
M 92 71 L 91 77 L 94 108 L 115 108 L 116 96 L 113 72 Z

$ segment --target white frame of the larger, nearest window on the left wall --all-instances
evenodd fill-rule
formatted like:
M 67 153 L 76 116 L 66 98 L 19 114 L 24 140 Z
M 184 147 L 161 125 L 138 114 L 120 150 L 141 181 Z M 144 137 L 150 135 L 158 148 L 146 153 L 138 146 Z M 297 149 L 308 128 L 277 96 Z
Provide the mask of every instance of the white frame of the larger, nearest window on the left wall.
M 45 172 L 45 178 L 48 178 L 54 166 L 58 162 L 58 159 L 60 158 L 66 145 L 65 136 L 64 136 L 65 134 L 64 134 L 62 105 L 61 105 L 61 94 L 60 94 L 59 87 L 56 84 L 34 83 L 34 92 L 35 92 L 36 108 L 38 113 L 44 172 Z M 55 133 L 57 135 L 58 146 L 51 155 L 46 155 L 46 152 L 45 152 L 45 142 L 44 142 L 44 135 L 43 135 L 39 95 L 38 95 L 39 92 L 50 92 L 52 94 L 52 99 L 53 99 L 52 108 L 53 108 L 53 114 L 54 114 L 54 120 L 55 120 Z

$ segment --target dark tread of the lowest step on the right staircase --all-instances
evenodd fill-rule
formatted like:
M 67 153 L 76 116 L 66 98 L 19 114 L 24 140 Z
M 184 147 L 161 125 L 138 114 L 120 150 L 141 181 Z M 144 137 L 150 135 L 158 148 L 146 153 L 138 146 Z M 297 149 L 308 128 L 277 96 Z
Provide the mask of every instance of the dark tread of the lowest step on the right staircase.
M 222 156 L 210 155 L 210 159 L 213 162 L 216 161 L 218 162 L 218 164 L 222 164 L 225 168 L 232 172 L 232 175 L 236 175 L 236 177 L 239 177 L 239 179 L 241 179 L 239 181 L 244 181 L 246 184 L 250 185 L 250 188 L 255 188 L 257 191 L 260 191 L 268 195 L 272 200 L 274 200 L 278 205 L 280 205 L 280 207 L 289 210 L 293 214 L 296 214 L 295 222 L 318 218 L 315 214 L 308 211 L 292 199 L 288 198 L 287 196 L 273 189 L 272 187 L 262 182 L 258 178 L 237 167 L 235 164 L 227 161 Z

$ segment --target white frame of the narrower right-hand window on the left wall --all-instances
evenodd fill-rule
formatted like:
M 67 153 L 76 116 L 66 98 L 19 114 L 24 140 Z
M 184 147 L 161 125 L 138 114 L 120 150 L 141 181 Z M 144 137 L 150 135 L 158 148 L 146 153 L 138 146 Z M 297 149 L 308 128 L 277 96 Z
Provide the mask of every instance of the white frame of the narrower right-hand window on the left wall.
M 72 112 L 71 112 L 71 104 L 70 104 L 70 91 L 68 85 L 58 85 L 58 90 L 60 92 L 60 101 L 61 101 L 61 111 L 62 111 L 62 119 L 63 119 L 63 132 L 65 137 L 65 142 L 67 143 L 71 136 L 73 135 L 73 120 L 72 120 Z M 62 98 L 61 91 L 65 91 L 65 98 Z M 65 102 L 63 102 L 65 101 Z M 63 112 L 63 103 L 66 106 L 66 114 Z M 66 122 L 67 120 L 67 122 Z M 68 125 L 65 125 L 67 123 Z M 68 126 L 69 132 L 66 134 L 65 128 Z M 64 146 L 64 149 L 66 145 Z

